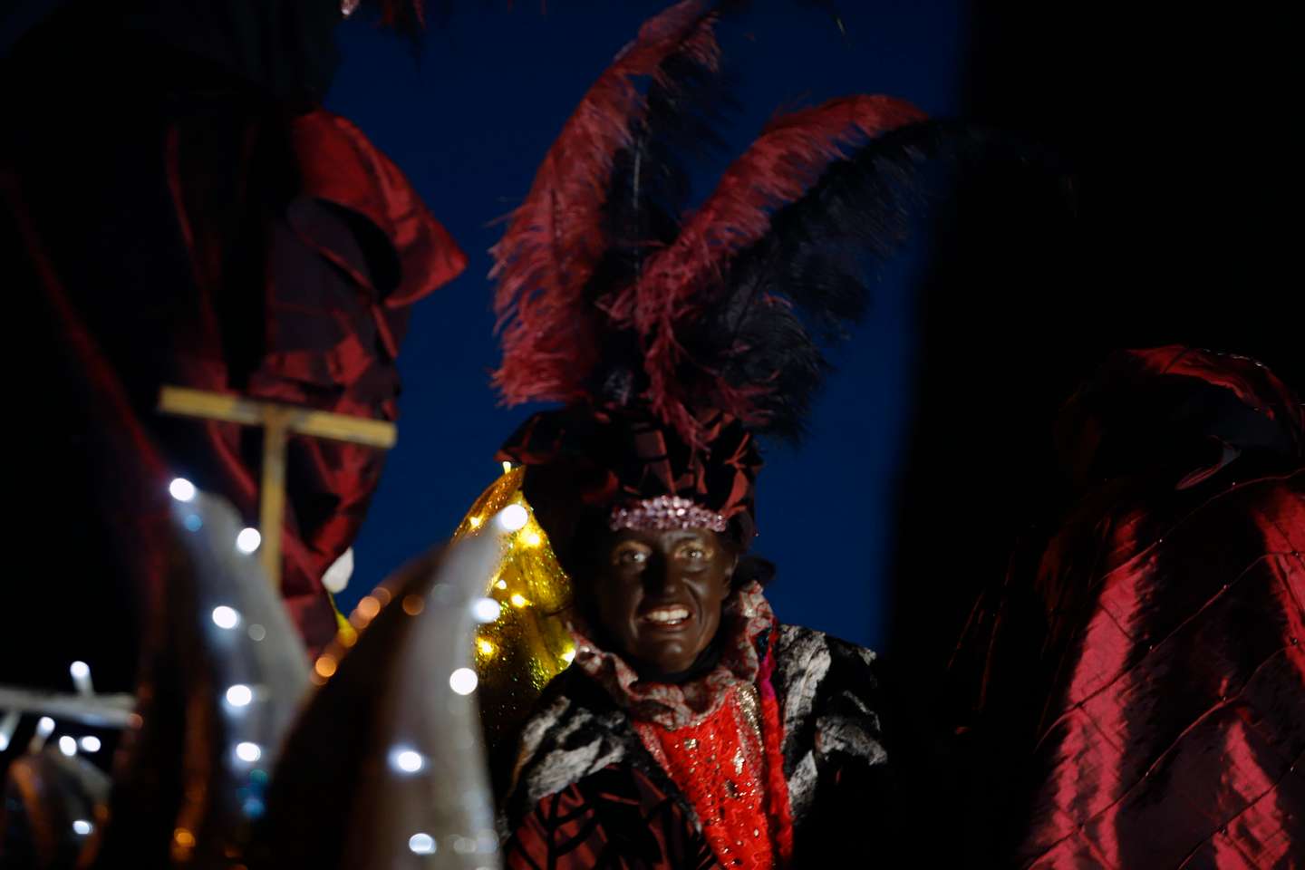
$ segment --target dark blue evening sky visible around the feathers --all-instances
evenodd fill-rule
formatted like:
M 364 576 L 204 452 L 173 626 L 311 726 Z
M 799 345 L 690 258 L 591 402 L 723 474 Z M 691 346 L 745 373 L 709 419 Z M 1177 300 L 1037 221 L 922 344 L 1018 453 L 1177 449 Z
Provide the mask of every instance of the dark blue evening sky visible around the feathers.
M 485 4 L 488 5 L 488 4 Z M 425 37 L 419 61 L 363 22 L 339 29 L 343 65 L 328 107 L 352 119 L 408 175 L 470 257 L 458 280 L 422 301 L 403 346 L 399 442 L 355 545 L 341 596 L 351 605 L 389 570 L 449 535 L 497 467 L 497 445 L 531 408 L 497 407 L 485 249 L 519 201 L 559 127 L 590 82 L 664 4 L 549 3 L 458 13 Z M 741 151 L 779 107 L 885 93 L 953 115 L 964 48 L 959 0 L 844 3 L 847 34 L 818 10 L 760 0 L 722 26 Z M 718 167 L 706 170 L 706 183 Z M 696 190 L 702 196 L 703 189 Z M 891 487 L 911 411 L 908 304 L 920 256 L 882 277 L 869 321 L 833 355 L 812 437 L 767 451 L 758 483 L 757 552 L 779 565 L 779 617 L 877 644 Z

